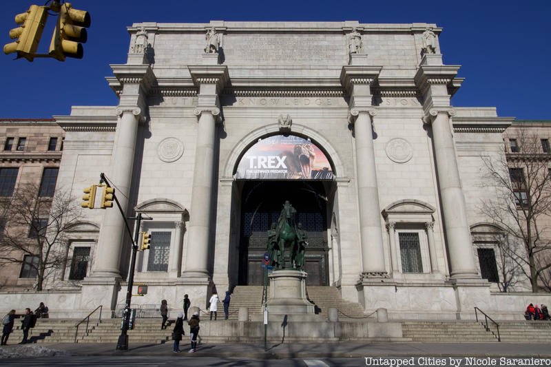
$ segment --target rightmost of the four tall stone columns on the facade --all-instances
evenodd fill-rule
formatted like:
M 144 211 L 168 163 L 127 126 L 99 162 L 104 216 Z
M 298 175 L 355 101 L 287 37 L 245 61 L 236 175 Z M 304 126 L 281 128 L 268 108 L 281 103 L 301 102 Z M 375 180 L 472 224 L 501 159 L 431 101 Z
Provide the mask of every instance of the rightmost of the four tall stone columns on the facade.
M 431 108 L 425 120 L 433 127 L 438 185 L 450 253 L 450 277 L 469 278 L 477 277 L 477 271 L 449 118 L 454 114 L 450 108 Z

